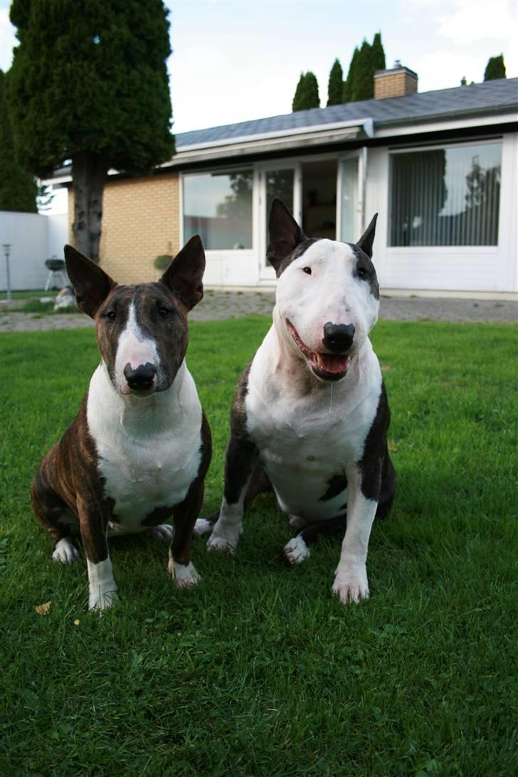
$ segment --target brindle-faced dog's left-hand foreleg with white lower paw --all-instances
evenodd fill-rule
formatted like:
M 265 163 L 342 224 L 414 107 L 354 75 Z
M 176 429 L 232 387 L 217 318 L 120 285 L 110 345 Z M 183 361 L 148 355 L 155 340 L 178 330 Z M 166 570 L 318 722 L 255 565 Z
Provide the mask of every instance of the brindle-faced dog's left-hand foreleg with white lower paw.
M 106 506 L 89 494 L 78 498 L 79 525 L 89 579 L 89 610 L 105 610 L 117 600 L 117 587 L 108 552 Z

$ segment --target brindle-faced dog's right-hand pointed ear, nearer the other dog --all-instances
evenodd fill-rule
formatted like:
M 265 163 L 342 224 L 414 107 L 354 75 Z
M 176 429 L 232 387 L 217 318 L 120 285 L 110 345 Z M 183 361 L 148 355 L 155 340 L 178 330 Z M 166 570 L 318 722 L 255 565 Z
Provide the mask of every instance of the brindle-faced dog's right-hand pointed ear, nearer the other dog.
M 160 278 L 189 310 L 203 298 L 203 273 L 205 271 L 205 251 L 200 235 L 186 242 L 180 253 Z

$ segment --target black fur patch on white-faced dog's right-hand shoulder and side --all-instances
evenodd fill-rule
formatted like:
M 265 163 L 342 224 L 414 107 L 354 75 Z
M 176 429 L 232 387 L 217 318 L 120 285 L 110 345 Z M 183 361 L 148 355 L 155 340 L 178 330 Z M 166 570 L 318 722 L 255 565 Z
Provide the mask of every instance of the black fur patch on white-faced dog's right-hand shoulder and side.
M 387 390 L 382 381 L 376 416 L 367 434 L 363 457 L 358 462 L 361 472 L 361 491 L 366 499 L 377 500 L 378 517 L 384 517 L 388 513 L 395 494 L 395 470 L 388 455 L 387 444 L 390 420 Z

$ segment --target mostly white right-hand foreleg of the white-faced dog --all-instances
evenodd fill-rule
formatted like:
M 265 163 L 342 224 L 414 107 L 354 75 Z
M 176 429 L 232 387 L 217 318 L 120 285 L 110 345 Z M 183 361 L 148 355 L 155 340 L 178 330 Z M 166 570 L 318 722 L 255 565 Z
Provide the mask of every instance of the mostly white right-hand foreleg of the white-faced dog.
M 367 549 L 370 529 L 376 515 L 377 499 L 370 499 L 361 490 L 361 472 L 347 472 L 347 528 L 342 542 L 339 565 L 335 571 L 334 594 L 344 605 L 367 599 Z

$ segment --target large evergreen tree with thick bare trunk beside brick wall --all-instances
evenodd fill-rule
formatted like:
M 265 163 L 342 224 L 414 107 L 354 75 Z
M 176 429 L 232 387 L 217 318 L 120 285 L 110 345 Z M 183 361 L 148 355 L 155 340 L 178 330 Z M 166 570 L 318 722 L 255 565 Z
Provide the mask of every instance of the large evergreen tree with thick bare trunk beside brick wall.
M 108 169 L 170 159 L 171 101 L 162 0 L 13 0 L 9 93 L 19 150 L 43 177 L 68 159 L 75 246 L 99 260 Z

